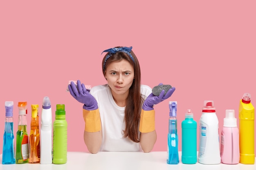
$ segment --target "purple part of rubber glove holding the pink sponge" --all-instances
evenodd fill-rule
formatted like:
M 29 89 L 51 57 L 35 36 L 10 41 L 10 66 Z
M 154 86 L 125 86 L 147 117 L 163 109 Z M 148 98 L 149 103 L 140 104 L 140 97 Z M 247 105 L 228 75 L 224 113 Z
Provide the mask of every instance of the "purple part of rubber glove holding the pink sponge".
M 85 110 L 96 110 L 98 104 L 96 99 L 89 93 L 85 88 L 84 84 L 81 84 L 80 80 L 77 80 L 77 88 L 74 82 L 68 85 L 70 94 L 80 103 L 84 104 L 83 108 Z

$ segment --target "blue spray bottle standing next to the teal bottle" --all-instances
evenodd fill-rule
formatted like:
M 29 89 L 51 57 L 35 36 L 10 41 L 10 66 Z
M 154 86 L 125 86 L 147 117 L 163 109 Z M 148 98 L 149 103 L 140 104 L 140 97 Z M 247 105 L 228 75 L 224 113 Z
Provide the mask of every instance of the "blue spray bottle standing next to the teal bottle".
M 178 134 L 177 134 L 177 102 L 169 102 L 169 132 L 168 132 L 168 148 L 167 163 L 178 164 Z

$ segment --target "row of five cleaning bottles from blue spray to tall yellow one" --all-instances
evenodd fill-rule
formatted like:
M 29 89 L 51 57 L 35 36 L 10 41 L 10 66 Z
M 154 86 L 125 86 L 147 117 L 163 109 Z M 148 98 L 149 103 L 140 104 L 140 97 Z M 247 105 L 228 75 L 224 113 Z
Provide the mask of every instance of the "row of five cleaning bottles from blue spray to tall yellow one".
M 205 100 L 199 121 L 199 152 L 197 158 L 197 123 L 190 109 L 182 121 L 182 163 L 254 164 L 254 106 L 245 93 L 239 105 L 239 130 L 235 110 L 227 109 L 219 142 L 218 118 L 213 101 Z M 169 102 L 169 133 L 167 163 L 179 163 L 177 152 L 177 102 Z

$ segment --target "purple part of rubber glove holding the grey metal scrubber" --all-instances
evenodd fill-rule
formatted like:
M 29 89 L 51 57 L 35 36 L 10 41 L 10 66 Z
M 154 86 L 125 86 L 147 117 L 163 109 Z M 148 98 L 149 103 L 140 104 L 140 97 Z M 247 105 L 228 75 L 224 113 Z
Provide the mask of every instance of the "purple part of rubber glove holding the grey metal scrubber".
M 162 83 L 160 83 L 160 84 L 162 84 Z M 153 93 L 151 93 L 150 95 L 148 95 L 148 97 L 144 101 L 142 109 L 146 110 L 146 111 L 153 110 L 153 106 L 155 104 L 159 104 L 160 102 L 164 101 L 165 99 L 168 99 L 169 97 L 171 97 L 171 95 L 173 94 L 174 91 L 175 91 L 175 87 L 172 87 L 168 90 L 166 95 L 164 95 L 164 90 L 162 90 L 162 92 L 159 94 L 159 96 L 155 96 L 155 95 L 153 95 Z

